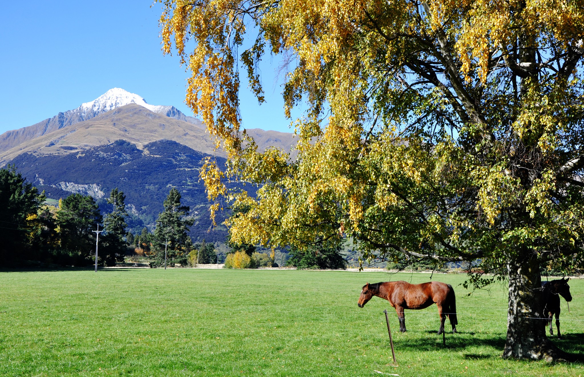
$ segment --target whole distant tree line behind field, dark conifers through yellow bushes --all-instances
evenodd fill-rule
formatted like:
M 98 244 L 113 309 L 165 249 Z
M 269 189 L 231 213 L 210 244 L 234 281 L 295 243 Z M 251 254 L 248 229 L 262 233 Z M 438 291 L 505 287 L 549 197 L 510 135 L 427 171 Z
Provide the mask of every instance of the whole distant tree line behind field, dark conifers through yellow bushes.
M 83 267 L 95 263 L 96 233 L 99 266 L 116 266 L 126 256 L 143 256 L 150 267 L 196 266 L 225 262 L 226 268 L 278 267 L 271 253 L 258 253 L 254 245 L 227 240 L 227 256 L 213 243 L 193 243 L 187 232 L 193 225 L 190 208 L 172 188 L 158 215 L 154 232 L 127 231 L 126 196 L 118 188 L 106 199 L 110 210 L 102 216 L 92 196 L 71 194 L 58 206 L 46 204 L 44 191 L 27 182 L 14 165 L 0 169 L 0 267 L 57 264 Z M 286 266 L 345 268 L 340 243 L 320 242 L 305 250 L 290 250 Z

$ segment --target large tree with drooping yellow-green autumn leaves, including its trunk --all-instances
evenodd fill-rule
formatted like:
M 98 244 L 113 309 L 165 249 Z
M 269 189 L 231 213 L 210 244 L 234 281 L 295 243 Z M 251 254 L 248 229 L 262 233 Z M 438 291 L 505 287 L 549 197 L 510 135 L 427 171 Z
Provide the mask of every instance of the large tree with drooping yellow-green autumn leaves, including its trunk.
M 526 317 L 540 268 L 583 266 L 583 0 L 162 3 L 186 103 L 229 157 L 201 169 L 213 208 L 249 208 L 227 220 L 232 242 L 350 236 L 364 258 L 479 260 L 509 280 L 504 356 L 563 357 Z M 261 103 L 267 54 L 286 115 L 307 104 L 295 159 L 241 130 L 239 62 Z

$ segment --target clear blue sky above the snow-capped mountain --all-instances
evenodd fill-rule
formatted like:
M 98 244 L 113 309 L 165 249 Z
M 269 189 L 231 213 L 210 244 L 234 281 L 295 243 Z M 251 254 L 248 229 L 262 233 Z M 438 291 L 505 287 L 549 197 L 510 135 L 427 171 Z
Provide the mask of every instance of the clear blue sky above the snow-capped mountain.
M 75 109 L 117 87 L 150 104 L 185 105 L 187 73 L 162 55 L 159 4 L 147 0 L 4 2 L 0 23 L 0 134 Z M 277 60 L 262 63 L 266 102 L 244 83 L 246 128 L 291 132 L 283 115 Z M 243 79 L 243 77 L 242 77 Z

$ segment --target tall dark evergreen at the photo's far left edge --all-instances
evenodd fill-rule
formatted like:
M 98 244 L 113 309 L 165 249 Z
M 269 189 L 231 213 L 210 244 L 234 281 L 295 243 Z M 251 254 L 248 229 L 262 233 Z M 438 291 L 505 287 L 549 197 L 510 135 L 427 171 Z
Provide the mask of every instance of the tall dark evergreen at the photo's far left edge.
M 0 169 L 0 266 L 28 260 L 30 247 L 38 229 L 37 211 L 43 203 L 44 193 L 27 183 L 14 165 Z

